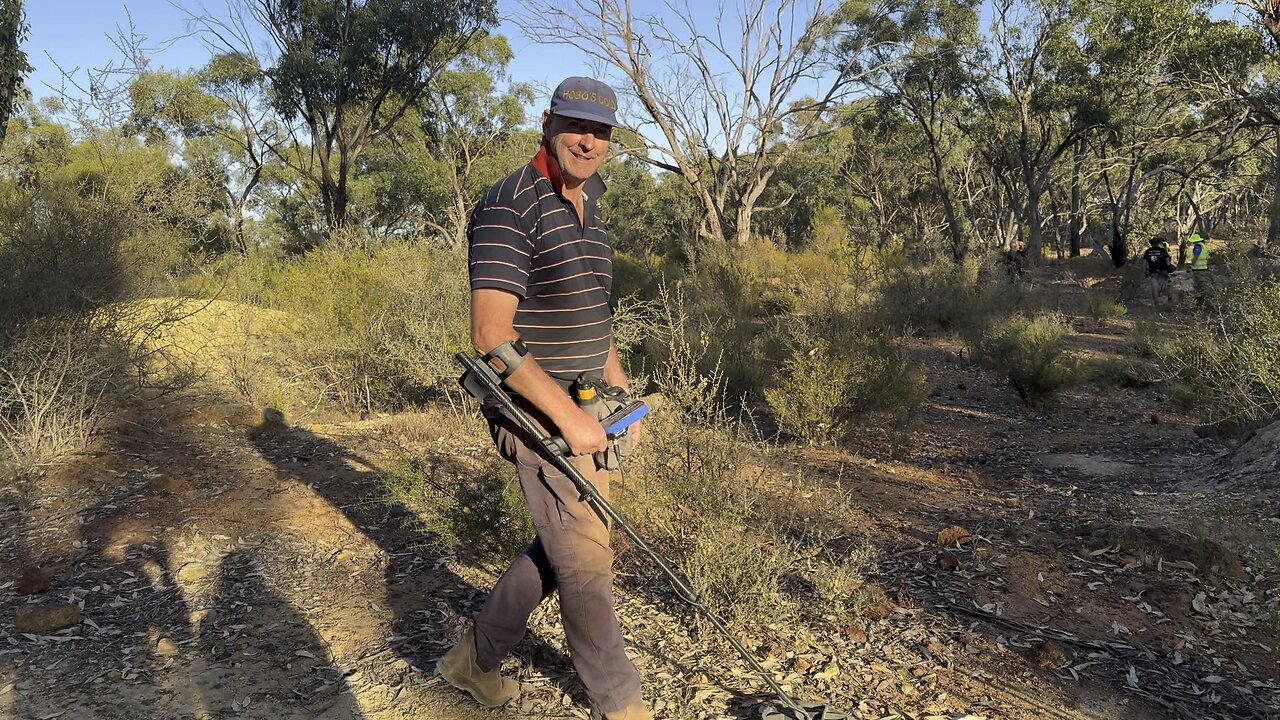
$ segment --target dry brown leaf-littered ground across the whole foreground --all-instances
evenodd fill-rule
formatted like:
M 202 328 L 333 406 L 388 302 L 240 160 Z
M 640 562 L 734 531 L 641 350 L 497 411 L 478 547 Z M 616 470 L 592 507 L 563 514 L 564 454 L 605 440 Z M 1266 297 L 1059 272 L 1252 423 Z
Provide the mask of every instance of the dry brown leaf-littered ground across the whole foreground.
M 1078 331 L 1080 348 L 1124 347 L 1124 325 Z M 1198 482 L 1229 447 L 1160 387 L 1032 409 L 959 347 L 916 352 L 934 387 L 916 427 L 762 456 L 799 523 L 882 557 L 884 601 L 863 615 L 746 638 L 788 689 L 876 719 L 1280 717 L 1280 559 L 1247 551 L 1275 548 L 1280 518 L 1268 492 Z M 442 482 L 486 461 L 476 424 L 429 418 Z M 518 707 L 434 678 L 495 569 L 425 550 L 388 500 L 396 423 L 287 425 L 188 392 L 12 488 L 0 717 L 585 717 L 554 607 L 509 661 Z M 659 583 L 623 574 L 618 602 L 659 717 L 755 712 L 763 685 Z M 78 621 L 15 628 L 49 605 Z

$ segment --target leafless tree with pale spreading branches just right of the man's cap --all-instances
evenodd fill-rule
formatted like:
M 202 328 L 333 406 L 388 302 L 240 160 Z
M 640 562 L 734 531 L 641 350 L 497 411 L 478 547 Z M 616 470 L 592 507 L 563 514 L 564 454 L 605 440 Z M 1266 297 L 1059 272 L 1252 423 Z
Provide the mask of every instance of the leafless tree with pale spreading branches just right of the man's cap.
M 631 0 L 527 0 L 517 23 L 623 79 L 644 138 L 628 150 L 689 183 L 703 240 L 744 246 L 754 215 L 773 209 L 760 197 L 782 163 L 865 90 L 870 51 L 896 45 L 883 31 L 899 4 L 685 0 L 637 13 Z

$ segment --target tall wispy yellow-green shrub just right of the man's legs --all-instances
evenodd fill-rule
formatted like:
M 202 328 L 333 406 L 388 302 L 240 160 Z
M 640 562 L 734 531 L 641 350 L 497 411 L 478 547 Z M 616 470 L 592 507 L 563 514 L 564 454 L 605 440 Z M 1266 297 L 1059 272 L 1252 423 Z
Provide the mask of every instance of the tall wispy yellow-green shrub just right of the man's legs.
M 653 379 L 662 402 L 625 468 L 617 505 L 713 611 L 758 626 L 790 612 L 780 585 L 792 555 L 753 515 L 760 495 L 746 468 L 751 425 L 730 411 L 708 337 L 691 327 L 678 288 L 664 291 L 660 307 L 657 334 L 667 347 Z M 622 559 L 646 566 L 634 548 Z

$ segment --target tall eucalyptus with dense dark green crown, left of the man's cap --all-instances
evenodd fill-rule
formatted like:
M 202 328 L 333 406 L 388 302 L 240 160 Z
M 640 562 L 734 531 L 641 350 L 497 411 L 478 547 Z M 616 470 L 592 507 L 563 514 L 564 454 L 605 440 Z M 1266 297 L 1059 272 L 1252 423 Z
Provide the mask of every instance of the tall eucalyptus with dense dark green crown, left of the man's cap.
M 229 19 L 198 19 L 216 42 L 262 68 L 289 123 L 280 158 L 316 188 L 329 231 L 347 224 L 360 155 L 497 22 L 493 0 L 237 1 Z

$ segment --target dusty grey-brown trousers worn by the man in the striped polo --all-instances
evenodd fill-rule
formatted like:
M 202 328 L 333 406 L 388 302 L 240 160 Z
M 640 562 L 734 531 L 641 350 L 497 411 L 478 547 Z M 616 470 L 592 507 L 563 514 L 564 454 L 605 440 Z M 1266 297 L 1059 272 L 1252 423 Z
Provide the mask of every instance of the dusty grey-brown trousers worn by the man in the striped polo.
M 502 666 L 525 637 L 534 609 L 559 592 L 564 637 L 591 706 L 599 712 L 623 710 L 640 700 L 640 674 L 625 652 L 613 612 L 609 530 L 513 420 L 498 409 L 486 407 L 485 415 L 498 452 L 516 465 L 538 534 L 498 579 L 475 618 L 476 659 L 485 667 Z M 595 470 L 590 457 L 575 460 L 608 498 L 608 473 Z

